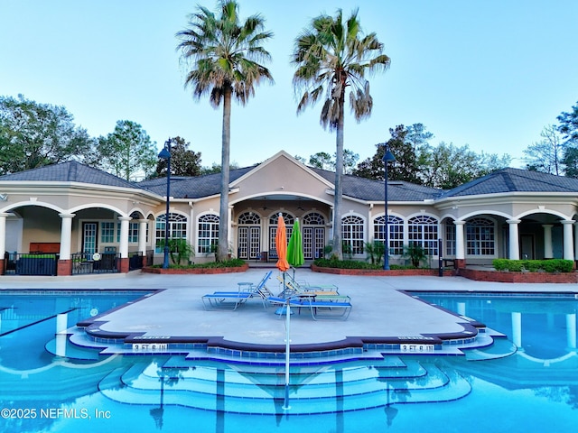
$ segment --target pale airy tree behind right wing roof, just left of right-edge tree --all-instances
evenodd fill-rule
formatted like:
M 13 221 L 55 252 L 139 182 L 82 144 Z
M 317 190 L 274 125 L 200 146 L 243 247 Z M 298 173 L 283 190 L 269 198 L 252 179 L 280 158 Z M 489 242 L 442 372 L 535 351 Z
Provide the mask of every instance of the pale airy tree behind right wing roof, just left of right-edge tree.
M 524 150 L 528 170 L 561 175 L 566 146 L 562 142 L 559 128 L 549 124 L 540 133 L 542 140 L 532 143 Z

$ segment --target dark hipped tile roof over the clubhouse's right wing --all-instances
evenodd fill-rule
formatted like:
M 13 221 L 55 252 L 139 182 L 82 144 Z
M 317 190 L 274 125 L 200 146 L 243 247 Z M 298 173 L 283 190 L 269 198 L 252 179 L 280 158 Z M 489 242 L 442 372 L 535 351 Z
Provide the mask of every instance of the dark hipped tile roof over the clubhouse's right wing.
M 443 198 L 500 192 L 578 192 L 578 179 L 522 169 L 502 169 L 445 191 Z

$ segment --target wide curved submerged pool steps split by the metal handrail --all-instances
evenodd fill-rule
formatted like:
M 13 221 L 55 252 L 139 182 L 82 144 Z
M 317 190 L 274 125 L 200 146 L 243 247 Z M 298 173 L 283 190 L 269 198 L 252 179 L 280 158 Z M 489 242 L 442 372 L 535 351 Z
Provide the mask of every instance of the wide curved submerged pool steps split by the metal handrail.
M 289 377 L 291 413 L 362 410 L 394 403 L 458 400 L 471 392 L 456 373 L 407 360 L 295 368 Z M 99 384 L 107 398 L 129 404 L 178 404 L 246 414 L 283 413 L 284 371 L 256 365 L 173 366 L 134 364 L 115 370 Z

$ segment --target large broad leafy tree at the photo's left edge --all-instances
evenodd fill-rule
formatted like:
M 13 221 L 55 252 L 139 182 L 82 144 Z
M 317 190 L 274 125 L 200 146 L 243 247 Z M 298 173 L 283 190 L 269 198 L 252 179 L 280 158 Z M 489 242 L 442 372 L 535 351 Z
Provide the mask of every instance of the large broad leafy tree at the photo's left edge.
M 62 161 L 84 162 L 92 139 L 64 106 L 0 97 L 0 174 Z

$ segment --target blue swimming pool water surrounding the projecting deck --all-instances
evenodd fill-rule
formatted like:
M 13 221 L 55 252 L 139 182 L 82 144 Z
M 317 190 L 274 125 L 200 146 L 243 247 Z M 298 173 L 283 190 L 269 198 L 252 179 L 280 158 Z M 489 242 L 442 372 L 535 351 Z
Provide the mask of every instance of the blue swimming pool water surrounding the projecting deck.
M 0 293 L 0 431 L 542 433 L 578 422 L 573 297 L 420 293 L 508 337 L 465 356 L 293 365 L 283 410 L 283 366 L 106 356 L 55 338 L 143 295 Z

